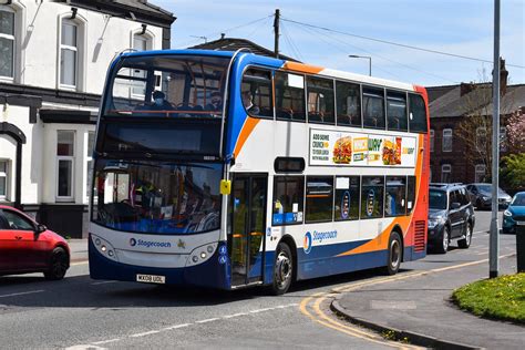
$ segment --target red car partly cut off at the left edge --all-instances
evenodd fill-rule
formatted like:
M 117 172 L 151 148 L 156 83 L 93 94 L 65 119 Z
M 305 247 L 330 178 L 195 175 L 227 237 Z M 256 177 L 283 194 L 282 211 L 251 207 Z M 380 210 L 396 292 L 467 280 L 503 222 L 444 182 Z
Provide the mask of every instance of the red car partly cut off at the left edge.
M 12 207 L 0 205 L 0 276 L 43 272 L 58 280 L 70 267 L 62 236 Z

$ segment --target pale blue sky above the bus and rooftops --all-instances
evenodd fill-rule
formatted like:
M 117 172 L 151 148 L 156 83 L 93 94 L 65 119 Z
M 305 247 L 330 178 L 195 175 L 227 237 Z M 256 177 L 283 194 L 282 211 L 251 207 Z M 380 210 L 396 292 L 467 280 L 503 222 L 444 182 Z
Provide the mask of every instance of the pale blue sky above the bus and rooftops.
M 492 81 L 494 0 L 150 2 L 177 18 L 172 24 L 173 49 L 217 40 L 225 33 L 274 50 L 272 16 L 279 9 L 279 51 L 305 63 L 369 74 L 369 60 L 348 56 L 354 54 L 371 56 L 372 75 L 389 80 L 424 86 Z M 509 83 L 525 83 L 525 0 L 501 1 L 500 45 Z

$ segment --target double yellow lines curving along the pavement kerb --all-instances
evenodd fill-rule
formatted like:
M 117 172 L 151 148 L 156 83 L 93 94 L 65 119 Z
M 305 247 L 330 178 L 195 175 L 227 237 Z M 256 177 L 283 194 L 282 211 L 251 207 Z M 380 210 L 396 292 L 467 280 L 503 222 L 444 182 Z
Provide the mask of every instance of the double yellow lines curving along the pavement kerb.
M 507 255 L 500 256 L 500 258 L 507 258 L 507 257 L 511 257 L 511 256 L 514 256 L 514 255 L 515 254 L 507 254 Z M 425 270 L 425 271 L 408 272 L 408 274 L 403 274 L 403 275 L 389 276 L 389 277 L 383 277 L 383 278 L 375 278 L 375 279 L 369 280 L 369 281 L 362 281 L 362 282 L 357 282 L 357 284 L 344 285 L 344 286 L 341 286 L 341 287 L 333 288 L 332 291 L 317 292 L 317 294 L 313 294 L 313 295 L 302 299 L 302 301 L 299 306 L 299 310 L 301 311 L 301 313 L 303 313 L 305 316 L 307 316 L 311 320 L 313 320 L 318 323 L 321 323 L 326 327 L 338 330 L 340 332 L 343 332 L 346 334 L 349 334 L 351 337 L 360 338 L 360 339 L 363 339 L 363 340 L 367 340 L 367 341 L 370 341 L 370 342 L 381 343 L 383 346 L 389 346 L 389 347 L 394 347 L 394 348 L 402 348 L 402 349 L 410 349 L 410 348 L 415 349 L 415 348 L 418 348 L 418 349 L 421 349 L 419 347 L 414 348 L 412 346 L 400 344 L 398 342 L 392 342 L 392 341 L 384 340 L 383 338 L 380 338 L 377 333 L 366 332 L 366 331 L 363 331 L 363 330 L 361 330 L 361 329 L 359 329 L 354 326 L 351 326 L 351 323 L 350 325 L 341 323 L 341 322 L 330 318 L 328 315 L 326 315 L 321 310 L 320 305 L 321 305 L 322 301 L 325 301 L 328 298 L 334 297 L 337 294 L 348 292 L 348 291 L 351 291 L 351 290 L 354 290 L 354 289 L 359 289 L 361 287 L 380 285 L 380 284 L 390 282 L 390 281 L 397 281 L 397 280 L 402 280 L 402 279 L 408 279 L 408 278 L 413 278 L 413 277 L 425 276 L 425 275 L 430 275 L 430 274 L 437 274 L 437 272 L 442 272 L 442 271 L 446 271 L 446 270 L 459 269 L 459 268 L 463 268 L 463 267 L 478 265 L 478 264 L 483 264 L 483 262 L 486 262 L 486 261 L 488 261 L 488 259 L 475 260 L 475 261 L 470 261 L 470 262 L 464 262 L 464 264 L 459 264 L 459 265 L 452 265 L 452 266 L 441 267 L 441 268 Z M 312 315 L 310 311 L 308 311 L 308 305 L 313 299 L 316 299 L 316 301 L 313 302 L 313 306 L 311 308 L 316 311 L 317 317 L 315 315 Z

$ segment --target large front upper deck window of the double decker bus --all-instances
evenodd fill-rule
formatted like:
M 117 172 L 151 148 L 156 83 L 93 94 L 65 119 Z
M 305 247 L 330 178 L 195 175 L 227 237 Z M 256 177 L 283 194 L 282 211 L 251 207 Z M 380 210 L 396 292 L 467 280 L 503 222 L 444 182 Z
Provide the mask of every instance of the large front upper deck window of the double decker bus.
M 104 116 L 220 117 L 229 58 L 130 56 L 111 78 Z

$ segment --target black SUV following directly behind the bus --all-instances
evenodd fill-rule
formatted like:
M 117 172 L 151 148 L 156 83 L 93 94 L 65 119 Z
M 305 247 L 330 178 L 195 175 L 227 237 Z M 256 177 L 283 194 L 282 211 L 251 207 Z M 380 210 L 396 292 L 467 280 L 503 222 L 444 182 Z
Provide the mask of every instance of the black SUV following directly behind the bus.
M 469 248 L 474 224 L 474 208 L 464 185 L 430 184 L 428 236 L 430 250 L 445 254 L 453 239 L 457 239 L 460 248 Z

